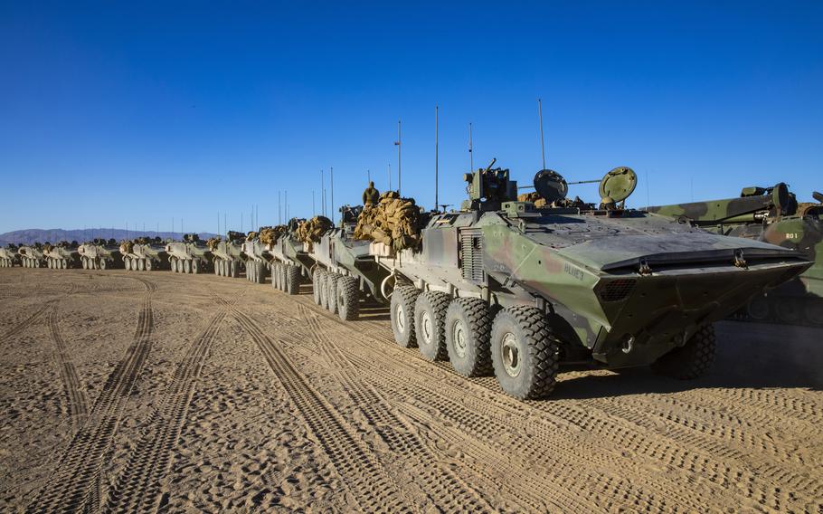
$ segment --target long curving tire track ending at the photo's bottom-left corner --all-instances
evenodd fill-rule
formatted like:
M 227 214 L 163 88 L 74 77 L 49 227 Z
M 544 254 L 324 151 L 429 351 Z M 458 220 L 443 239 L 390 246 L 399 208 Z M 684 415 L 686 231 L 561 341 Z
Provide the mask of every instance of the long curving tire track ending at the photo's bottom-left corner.
M 126 355 L 103 385 L 85 424 L 74 434 L 52 477 L 29 505 L 28 512 L 75 512 L 99 508 L 99 475 L 117 432 L 128 395 L 152 346 L 152 295 L 156 284 L 134 278 L 145 287 L 137 328 Z

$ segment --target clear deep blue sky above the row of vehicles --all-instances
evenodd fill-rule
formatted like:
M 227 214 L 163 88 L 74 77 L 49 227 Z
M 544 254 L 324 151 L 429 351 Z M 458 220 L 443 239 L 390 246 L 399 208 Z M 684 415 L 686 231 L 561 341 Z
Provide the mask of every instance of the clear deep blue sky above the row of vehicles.
M 459 205 L 497 157 L 521 184 L 639 172 L 633 205 L 823 189 L 823 3 L 26 2 L 0 5 L 0 232 L 248 230 L 311 214 L 319 170 Z M 395 184 L 396 186 L 396 184 Z M 595 186 L 573 194 L 597 200 Z M 319 198 L 319 193 L 317 193 Z M 318 208 L 319 208 L 319 200 Z M 175 228 L 179 225 L 175 222 Z

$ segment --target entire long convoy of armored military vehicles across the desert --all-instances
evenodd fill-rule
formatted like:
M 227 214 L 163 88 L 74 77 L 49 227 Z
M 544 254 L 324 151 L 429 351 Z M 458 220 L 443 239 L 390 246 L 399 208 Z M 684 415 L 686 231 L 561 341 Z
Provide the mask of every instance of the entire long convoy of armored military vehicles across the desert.
M 343 320 L 387 305 L 395 341 L 463 376 L 494 375 L 509 395 L 548 395 L 563 367 L 652 366 L 680 379 L 714 361 L 713 323 L 823 325 L 823 195 L 785 185 L 741 198 L 631 209 L 637 175 L 617 167 L 601 201 L 567 198 L 556 171 L 518 195 L 508 169 L 464 176 L 459 211 L 424 211 L 394 192 L 323 216 L 202 242 L 138 239 L 0 249 L 0 266 L 213 271 L 270 283 Z M 524 187 L 521 187 L 524 188 Z M 813 262 L 812 262 L 813 261 Z

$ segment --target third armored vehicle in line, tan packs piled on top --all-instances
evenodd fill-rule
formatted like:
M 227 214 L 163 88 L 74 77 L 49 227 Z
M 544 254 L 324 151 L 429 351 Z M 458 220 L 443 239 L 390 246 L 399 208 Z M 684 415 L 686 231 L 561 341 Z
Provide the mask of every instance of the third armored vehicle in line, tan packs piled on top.
M 292 218 L 286 232 L 277 241 L 269 245 L 271 255 L 271 285 L 289 294 L 298 294 L 300 281 L 311 277 L 315 260 L 309 255 L 308 248 L 297 237 L 298 226 L 306 220 Z

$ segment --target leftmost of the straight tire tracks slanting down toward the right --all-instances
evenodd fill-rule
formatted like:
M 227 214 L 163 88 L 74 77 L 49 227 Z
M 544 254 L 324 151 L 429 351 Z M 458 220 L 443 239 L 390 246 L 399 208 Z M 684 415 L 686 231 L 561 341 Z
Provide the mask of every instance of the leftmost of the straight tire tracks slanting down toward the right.
M 232 317 L 260 348 L 271 371 L 289 394 L 309 432 L 341 475 L 345 488 L 360 510 L 409 511 L 410 502 L 402 493 L 402 488 L 389 478 L 383 464 L 345 417 L 291 365 L 280 345 L 251 316 L 234 307 L 231 311 Z

